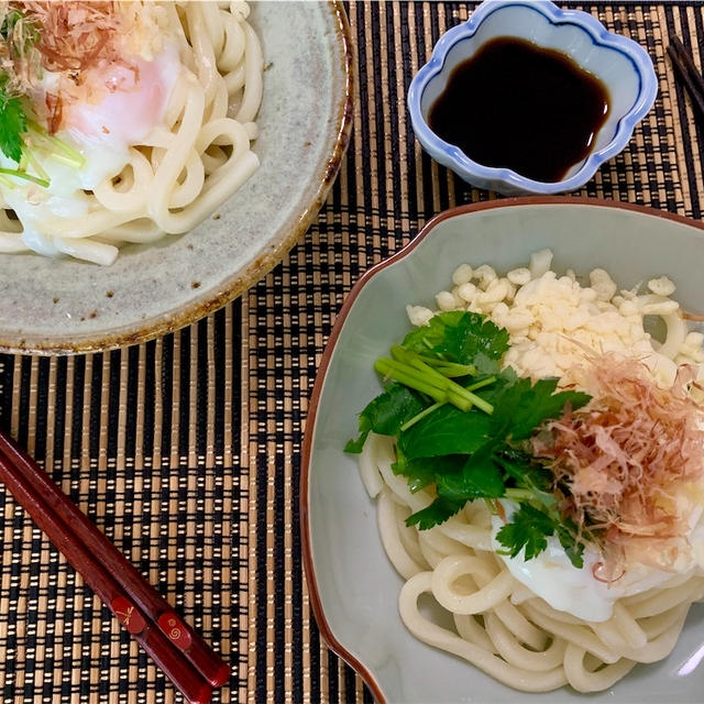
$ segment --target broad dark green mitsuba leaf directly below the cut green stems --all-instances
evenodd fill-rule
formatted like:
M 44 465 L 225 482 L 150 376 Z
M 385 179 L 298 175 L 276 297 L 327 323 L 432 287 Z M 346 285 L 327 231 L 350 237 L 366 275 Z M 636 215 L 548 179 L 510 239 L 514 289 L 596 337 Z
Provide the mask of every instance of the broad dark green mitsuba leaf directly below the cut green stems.
M 486 442 L 490 430 L 491 417 L 485 413 L 444 405 L 405 430 L 398 444 L 409 460 L 472 454 Z

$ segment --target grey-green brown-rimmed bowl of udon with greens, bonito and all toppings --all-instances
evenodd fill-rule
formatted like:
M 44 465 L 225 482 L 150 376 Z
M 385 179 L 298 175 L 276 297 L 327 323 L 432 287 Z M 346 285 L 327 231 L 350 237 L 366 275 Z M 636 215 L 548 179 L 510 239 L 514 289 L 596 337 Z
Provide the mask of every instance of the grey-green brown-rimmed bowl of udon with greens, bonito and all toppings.
M 377 701 L 701 701 L 702 229 L 474 204 L 353 287 L 301 537 L 321 634 Z

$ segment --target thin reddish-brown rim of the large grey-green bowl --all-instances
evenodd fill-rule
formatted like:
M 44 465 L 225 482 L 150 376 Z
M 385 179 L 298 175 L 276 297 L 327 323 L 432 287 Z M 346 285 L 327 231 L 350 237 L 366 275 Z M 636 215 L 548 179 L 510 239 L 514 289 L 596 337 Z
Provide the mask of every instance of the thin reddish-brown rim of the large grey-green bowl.
M 301 448 L 301 462 L 300 462 L 300 477 L 298 483 L 298 504 L 299 504 L 299 527 L 300 527 L 300 542 L 302 553 L 302 565 L 306 583 L 308 585 L 308 601 L 312 610 L 314 617 L 318 625 L 318 629 L 322 639 L 326 641 L 330 650 L 337 656 L 342 658 L 364 681 L 364 684 L 370 689 L 374 695 L 374 700 L 378 704 L 386 704 L 387 700 L 382 692 L 380 683 L 376 681 L 371 670 L 354 656 L 346 646 L 340 642 L 340 639 L 333 634 L 330 627 L 326 614 L 322 607 L 322 598 L 318 588 L 318 582 L 316 572 L 314 569 L 314 556 L 312 556 L 312 535 L 310 531 L 310 463 L 312 457 L 312 441 L 316 432 L 316 420 L 318 417 L 320 396 L 324 386 L 328 370 L 332 360 L 332 354 L 336 349 L 338 339 L 344 327 L 350 310 L 354 306 L 356 298 L 362 289 L 374 278 L 377 274 L 383 272 L 388 266 L 399 262 L 408 256 L 429 234 L 443 220 L 462 216 L 465 213 L 481 212 L 484 210 L 493 210 L 496 208 L 512 208 L 512 207 L 526 207 L 526 206 L 585 206 L 594 208 L 610 208 L 615 210 L 626 210 L 630 212 L 637 212 L 644 216 L 650 216 L 656 218 L 662 218 L 670 220 L 679 224 L 683 224 L 690 228 L 704 231 L 704 222 L 700 220 L 693 220 L 684 216 L 669 212 L 666 210 L 658 210 L 648 206 L 640 206 L 632 202 L 625 202 L 619 200 L 607 200 L 605 198 L 587 198 L 583 196 L 518 196 L 514 198 L 501 198 L 495 200 L 486 200 L 482 202 L 466 204 L 462 206 L 455 206 L 449 208 L 428 220 L 418 234 L 406 245 L 404 245 L 398 252 L 394 253 L 389 257 L 374 264 L 356 280 L 350 293 L 348 294 L 344 302 L 338 315 L 336 316 L 332 330 L 328 341 L 326 342 L 320 364 L 318 366 L 318 373 L 314 382 L 312 392 L 308 402 L 308 411 L 306 418 L 306 428 L 304 432 L 304 442 Z

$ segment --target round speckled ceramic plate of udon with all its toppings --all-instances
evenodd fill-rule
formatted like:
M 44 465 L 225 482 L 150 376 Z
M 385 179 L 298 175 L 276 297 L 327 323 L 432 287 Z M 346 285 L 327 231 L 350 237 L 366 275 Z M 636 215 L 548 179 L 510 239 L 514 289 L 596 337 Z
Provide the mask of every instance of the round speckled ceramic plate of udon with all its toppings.
M 140 342 L 237 297 L 321 207 L 353 92 L 337 2 L 0 2 L 0 349 Z

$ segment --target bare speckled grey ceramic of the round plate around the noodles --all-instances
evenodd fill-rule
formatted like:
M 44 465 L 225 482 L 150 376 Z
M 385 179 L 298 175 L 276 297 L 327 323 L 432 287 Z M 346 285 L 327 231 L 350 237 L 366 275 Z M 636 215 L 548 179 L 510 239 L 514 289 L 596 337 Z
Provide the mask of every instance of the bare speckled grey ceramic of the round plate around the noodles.
M 216 310 L 268 272 L 320 209 L 352 118 L 350 31 L 341 3 L 252 2 L 263 44 L 261 167 L 198 228 L 129 245 L 110 267 L 0 255 L 0 350 L 106 350 Z

